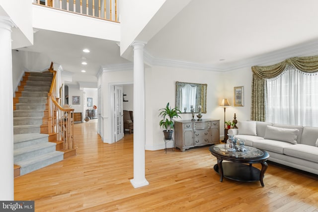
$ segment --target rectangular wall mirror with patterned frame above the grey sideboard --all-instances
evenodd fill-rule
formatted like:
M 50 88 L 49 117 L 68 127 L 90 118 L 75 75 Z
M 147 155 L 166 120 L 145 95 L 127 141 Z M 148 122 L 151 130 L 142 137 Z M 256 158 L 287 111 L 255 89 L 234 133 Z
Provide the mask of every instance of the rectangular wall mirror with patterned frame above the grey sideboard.
M 199 113 L 199 105 L 202 107 L 201 113 L 207 113 L 207 84 L 176 82 L 175 83 L 175 106 L 182 113 Z

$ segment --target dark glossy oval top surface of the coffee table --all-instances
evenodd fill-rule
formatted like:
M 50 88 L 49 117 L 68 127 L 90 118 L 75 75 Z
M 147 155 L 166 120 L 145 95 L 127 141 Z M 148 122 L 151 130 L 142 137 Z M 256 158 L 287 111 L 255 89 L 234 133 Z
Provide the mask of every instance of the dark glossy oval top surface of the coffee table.
M 264 155 L 264 152 L 251 147 L 251 146 L 244 146 L 246 151 L 231 151 L 231 148 L 229 144 L 216 144 L 213 147 L 213 150 L 217 152 L 218 154 L 230 156 L 230 157 L 236 157 L 236 158 L 253 158 L 253 157 L 260 157 Z

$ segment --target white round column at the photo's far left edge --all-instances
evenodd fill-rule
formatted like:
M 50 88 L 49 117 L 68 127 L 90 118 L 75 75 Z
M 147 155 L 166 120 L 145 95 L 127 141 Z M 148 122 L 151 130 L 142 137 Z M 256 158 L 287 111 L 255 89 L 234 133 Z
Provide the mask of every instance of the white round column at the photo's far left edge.
M 0 16 L 0 200 L 14 200 L 13 181 L 13 95 L 11 27 L 8 17 Z

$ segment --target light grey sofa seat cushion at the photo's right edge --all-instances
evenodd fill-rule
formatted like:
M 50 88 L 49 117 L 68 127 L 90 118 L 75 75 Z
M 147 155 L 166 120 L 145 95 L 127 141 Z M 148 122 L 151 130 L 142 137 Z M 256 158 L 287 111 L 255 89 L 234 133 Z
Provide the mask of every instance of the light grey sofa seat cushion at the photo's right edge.
M 284 147 L 284 154 L 312 162 L 318 161 L 318 147 L 313 147 L 311 145 L 295 144 L 286 146 Z

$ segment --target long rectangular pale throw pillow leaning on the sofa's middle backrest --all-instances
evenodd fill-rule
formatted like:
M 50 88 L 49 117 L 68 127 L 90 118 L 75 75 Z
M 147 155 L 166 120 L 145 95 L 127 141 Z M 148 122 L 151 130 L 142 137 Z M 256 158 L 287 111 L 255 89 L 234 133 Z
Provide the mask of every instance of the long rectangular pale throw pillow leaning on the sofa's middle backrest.
M 267 126 L 264 139 L 286 141 L 297 144 L 298 129 L 286 129 L 273 126 Z

